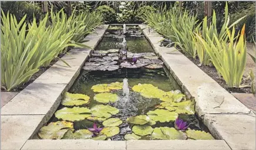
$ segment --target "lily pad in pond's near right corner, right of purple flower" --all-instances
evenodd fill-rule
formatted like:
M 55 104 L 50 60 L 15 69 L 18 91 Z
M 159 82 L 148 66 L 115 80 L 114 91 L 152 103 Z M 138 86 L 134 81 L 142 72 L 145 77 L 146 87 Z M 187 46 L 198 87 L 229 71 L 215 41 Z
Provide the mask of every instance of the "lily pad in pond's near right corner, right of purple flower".
M 214 139 L 214 137 L 207 132 L 204 131 L 198 131 L 194 129 L 188 129 L 186 131 L 187 137 L 191 139 L 202 139 L 202 140 L 209 140 L 209 139 Z

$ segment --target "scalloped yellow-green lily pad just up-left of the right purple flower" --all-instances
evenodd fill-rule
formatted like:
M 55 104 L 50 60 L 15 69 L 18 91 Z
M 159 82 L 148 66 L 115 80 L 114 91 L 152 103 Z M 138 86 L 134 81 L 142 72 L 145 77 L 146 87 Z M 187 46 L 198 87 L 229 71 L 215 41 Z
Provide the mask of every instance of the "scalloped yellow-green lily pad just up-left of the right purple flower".
M 178 117 L 178 114 L 176 112 L 170 112 L 168 110 L 161 110 L 161 109 L 149 111 L 147 112 L 147 115 L 149 115 L 151 120 L 159 121 L 159 122 L 175 121 L 176 118 Z

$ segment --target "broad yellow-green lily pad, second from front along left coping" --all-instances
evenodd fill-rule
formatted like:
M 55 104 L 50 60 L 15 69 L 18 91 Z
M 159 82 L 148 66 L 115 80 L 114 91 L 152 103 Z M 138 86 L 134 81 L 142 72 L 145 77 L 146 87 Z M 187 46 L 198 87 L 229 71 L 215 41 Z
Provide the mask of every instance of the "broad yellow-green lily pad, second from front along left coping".
M 90 117 L 90 115 L 91 114 L 89 108 L 85 107 L 64 107 L 61 110 L 55 112 L 55 117 L 68 121 L 84 120 L 85 118 Z

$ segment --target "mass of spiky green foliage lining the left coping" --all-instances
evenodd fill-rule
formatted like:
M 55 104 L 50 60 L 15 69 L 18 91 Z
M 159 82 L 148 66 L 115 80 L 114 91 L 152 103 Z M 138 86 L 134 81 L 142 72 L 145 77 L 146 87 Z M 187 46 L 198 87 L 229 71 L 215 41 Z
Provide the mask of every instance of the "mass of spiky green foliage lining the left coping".
M 39 23 L 26 24 L 26 15 L 18 22 L 14 15 L 2 13 L 1 84 L 6 90 L 29 81 L 40 66 L 49 66 L 68 46 L 85 47 L 85 35 L 102 23 L 99 13 L 84 12 L 67 18 L 63 10 L 48 13 Z M 27 29 L 27 30 L 26 30 Z M 63 61 L 63 60 L 62 60 Z

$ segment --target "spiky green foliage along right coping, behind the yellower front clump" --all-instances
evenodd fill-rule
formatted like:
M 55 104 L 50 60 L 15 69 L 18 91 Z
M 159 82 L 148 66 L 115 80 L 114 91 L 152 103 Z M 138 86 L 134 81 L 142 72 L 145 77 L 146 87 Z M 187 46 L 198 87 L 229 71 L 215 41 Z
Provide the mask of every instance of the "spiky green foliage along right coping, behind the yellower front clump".
M 200 30 L 196 15 L 173 5 L 170 9 L 160 9 L 156 13 L 146 13 L 144 21 L 157 32 L 175 42 L 188 56 L 196 58 L 193 31 Z

